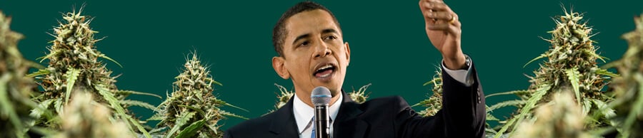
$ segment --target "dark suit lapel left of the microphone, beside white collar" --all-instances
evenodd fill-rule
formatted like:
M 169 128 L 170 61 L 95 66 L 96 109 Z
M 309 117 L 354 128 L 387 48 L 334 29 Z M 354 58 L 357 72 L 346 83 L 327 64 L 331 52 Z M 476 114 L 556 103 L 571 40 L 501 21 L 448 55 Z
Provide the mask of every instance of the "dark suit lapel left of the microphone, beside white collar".
M 290 97 L 286 105 L 272 113 L 272 123 L 269 131 L 275 134 L 275 137 L 299 137 L 297 124 L 292 111 L 293 98 L 296 97 Z

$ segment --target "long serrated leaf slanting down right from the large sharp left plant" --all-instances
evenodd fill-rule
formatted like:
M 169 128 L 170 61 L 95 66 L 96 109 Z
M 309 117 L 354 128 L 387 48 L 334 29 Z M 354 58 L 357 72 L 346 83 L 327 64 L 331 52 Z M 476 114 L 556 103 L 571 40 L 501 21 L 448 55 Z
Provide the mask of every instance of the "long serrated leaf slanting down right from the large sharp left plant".
M 116 115 L 121 117 L 121 120 L 125 120 L 130 122 L 131 124 L 134 124 L 134 126 L 139 129 L 139 132 L 142 132 L 145 137 L 151 138 L 151 135 L 149 135 L 147 130 L 141 124 L 139 124 L 138 121 L 134 120 L 134 118 L 125 113 L 125 109 L 121 106 L 119 100 L 114 97 L 110 90 L 103 87 L 102 85 L 96 85 L 94 86 L 94 88 L 99 91 L 99 94 L 104 98 L 104 100 L 109 102 L 110 107 L 116 110 Z M 129 127 L 130 131 L 134 132 L 134 129 L 131 127 L 130 123 L 125 124 L 127 124 L 127 127 Z

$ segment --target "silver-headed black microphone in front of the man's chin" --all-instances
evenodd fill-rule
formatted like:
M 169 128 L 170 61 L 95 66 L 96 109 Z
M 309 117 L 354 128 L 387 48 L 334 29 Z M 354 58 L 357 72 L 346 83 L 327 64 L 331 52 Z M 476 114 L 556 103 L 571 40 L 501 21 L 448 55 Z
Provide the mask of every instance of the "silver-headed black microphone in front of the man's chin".
M 310 99 L 315 105 L 315 138 L 330 137 L 328 105 L 331 97 L 330 90 L 324 86 L 315 87 L 310 95 Z

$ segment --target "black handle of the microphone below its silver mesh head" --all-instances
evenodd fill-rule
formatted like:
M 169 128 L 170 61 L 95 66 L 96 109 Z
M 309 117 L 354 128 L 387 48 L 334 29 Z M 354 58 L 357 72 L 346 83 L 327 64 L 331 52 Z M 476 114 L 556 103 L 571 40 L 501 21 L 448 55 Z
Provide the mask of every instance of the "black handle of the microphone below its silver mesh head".
M 330 137 L 328 105 L 315 106 L 315 138 Z

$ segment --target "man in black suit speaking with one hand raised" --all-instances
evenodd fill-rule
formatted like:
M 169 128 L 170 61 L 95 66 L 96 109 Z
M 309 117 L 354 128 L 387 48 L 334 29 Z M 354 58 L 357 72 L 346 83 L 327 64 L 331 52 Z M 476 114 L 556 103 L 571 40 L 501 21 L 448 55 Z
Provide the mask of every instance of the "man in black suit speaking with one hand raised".
M 332 12 L 313 2 L 286 11 L 273 32 L 272 65 L 291 79 L 295 95 L 263 117 L 231 127 L 224 137 L 311 137 L 314 87 L 328 87 L 332 137 L 483 137 L 484 95 L 476 71 L 460 48 L 457 14 L 442 1 L 420 1 L 427 36 L 442 53 L 444 102 L 433 117 L 420 117 L 402 97 L 382 97 L 358 104 L 342 90 L 350 63 L 349 43 Z

